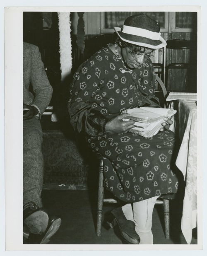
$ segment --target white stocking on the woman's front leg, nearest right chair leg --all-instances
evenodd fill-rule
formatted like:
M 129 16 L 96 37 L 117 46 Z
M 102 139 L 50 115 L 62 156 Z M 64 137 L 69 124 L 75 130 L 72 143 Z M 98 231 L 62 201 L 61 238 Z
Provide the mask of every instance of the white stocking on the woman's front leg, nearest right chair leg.
M 159 196 L 133 203 L 135 231 L 140 236 L 140 244 L 153 244 L 152 213 Z

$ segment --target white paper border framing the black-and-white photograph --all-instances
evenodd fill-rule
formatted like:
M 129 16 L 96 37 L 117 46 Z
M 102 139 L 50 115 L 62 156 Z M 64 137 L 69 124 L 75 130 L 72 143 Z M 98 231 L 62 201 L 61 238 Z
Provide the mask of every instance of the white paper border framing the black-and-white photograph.
M 38 1 L 36 1 L 37 3 Z M 44 2 L 44 1 L 41 1 Z M 47 1 L 48 2 L 48 1 Z M 52 1 L 50 1 L 52 2 Z M 61 1 L 58 1 L 60 4 Z M 120 1 L 119 1 L 120 2 Z M 157 1 L 160 2 L 160 1 Z M 181 2 L 181 1 L 179 1 Z M 195 1 L 199 2 L 199 1 Z M 9 1 L 7 1 L 8 5 Z M 36 5 L 35 3 L 35 5 Z M 77 3 L 77 2 L 76 2 Z M 106 2 L 104 2 L 106 4 Z M 114 2 L 113 2 L 114 3 Z M 96 3 L 97 4 L 97 3 Z M 126 3 L 125 3 L 126 4 Z M 5 6 L 7 6 L 5 5 Z M 17 5 L 17 3 L 16 3 Z M 25 2 L 25 5 L 28 3 Z M 19 131 L 22 130 L 22 91 L 19 91 L 22 85 L 22 12 L 23 11 L 45 11 L 45 12 L 91 12 L 91 11 L 127 11 L 131 6 L 99 6 L 99 7 L 39 7 L 32 5 L 30 7 L 8 7 L 7 15 L 5 15 L 5 230 L 6 230 L 6 250 L 8 251 L 36 251 L 36 250 L 200 250 L 202 249 L 202 232 L 198 232 L 197 245 L 26 245 L 22 244 L 22 138 Z M 12 5 L 15 6 L 15 5 Z M 65 5 L 64 5 L 65 6 Z M 135 5 L 134 5 L 135 6 Z M 189 10 L 195 10 L 196 6 L 188 6 Z M 139 11 L 156 10 L 159 11 L 182 11 L 186 10 L 186 6 L 139 6 Z M 200 11 L 199 11 L 200 12 Z M 200 46 L 200 47 L 199 47 Z M 201 73 L 201 17 L 198 17 L 198 134 L 202 135 L 202 73 Z M 203 53 L 202 53 L 203 54 Z M 199 65 L 200 64 L 200 65 Z M 12 86 L 10 86 L 12 85 Z M 18 100 L 17 100 L 18 99 Z M 17 127 L 17 124 L 19 127 Z M 200 130 L 199 130 L 200 129 Z M 198 148 L 202 148 L 202 140 L 198 142 Z M 202 154 L 198 154 L 198 168 L 200 175 L 198 176 L 198 194 L 202 195 Z M 199 197 L 198 197 L 199 199 Z M 198 200 L 198 208 L 202 209 L 202 196 Z M 198 227 L 202 225 L 202 213 L 198 217 Z M 14 228 L 15 227 L 15 228 Z M 201 230 L 202 231 L 202 230 Z M 137 252 L 138 253 L 138 252 Z M 142 251 L 143 253 L 143 251 Z M 161 251 L 159 251 L 161 255 Z

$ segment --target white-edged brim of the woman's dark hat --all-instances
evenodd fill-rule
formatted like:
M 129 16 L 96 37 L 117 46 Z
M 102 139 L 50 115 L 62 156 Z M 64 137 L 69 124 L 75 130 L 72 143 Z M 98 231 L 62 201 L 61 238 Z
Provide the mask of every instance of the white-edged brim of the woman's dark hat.
M 135 36 L 121 32 L 119 27 L 114 27 L 116 33 L 125 42 L 151 49 L 160 49 L 166 46 L 166 41 L 160 36 L 159 40 L 152 40 L 142 36 Z

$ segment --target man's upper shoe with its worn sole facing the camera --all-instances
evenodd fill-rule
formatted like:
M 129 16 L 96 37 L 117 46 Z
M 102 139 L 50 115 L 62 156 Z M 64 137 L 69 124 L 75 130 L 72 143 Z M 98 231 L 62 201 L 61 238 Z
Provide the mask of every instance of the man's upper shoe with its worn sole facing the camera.
M 23 223 L 33 234 L 43 234 L 48 227 L 48 214 L 43 208 L 26 209 L 23 212 Z

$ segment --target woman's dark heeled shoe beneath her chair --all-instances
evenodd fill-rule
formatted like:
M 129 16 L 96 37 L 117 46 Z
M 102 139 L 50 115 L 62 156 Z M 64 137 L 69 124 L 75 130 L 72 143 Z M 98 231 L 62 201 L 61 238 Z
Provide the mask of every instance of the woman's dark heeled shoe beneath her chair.
M 127 220 L 121 207 L 111 211 L 115 219 L 112 222 L 108 222 L 109 226 L 113 228 L 116 223 L 120 228 L 121 235 L 130 244 L 139 244 L 140 236 L 135 231 L 135 223 L 131 220 Z

